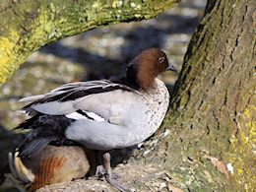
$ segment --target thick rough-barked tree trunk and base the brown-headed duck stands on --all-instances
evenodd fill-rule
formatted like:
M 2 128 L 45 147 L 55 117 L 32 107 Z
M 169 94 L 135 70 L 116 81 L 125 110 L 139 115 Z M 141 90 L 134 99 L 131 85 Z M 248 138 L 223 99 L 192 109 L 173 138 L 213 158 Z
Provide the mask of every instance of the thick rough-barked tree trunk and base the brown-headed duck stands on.
M 160 131 L 115 168 L 128 186 L 137 191 L 255 189 L 255 3 L 209 1 Z M 39 191 L 92 189 L 88 182 Z

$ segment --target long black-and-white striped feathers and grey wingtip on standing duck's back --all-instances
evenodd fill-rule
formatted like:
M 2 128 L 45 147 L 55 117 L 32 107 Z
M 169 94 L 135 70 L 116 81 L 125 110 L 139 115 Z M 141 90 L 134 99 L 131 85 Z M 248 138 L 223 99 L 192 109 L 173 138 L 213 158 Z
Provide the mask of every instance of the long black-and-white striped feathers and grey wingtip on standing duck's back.
M 27 112 L 37 111 L 43 114 L 62 115 L 77 110 L 74 104 L 88 96 L 95 96 L 113 91 L 134 92 L 135 90 L 109 80 L 70 83 L 52 90 L 45 95 L 29 96 L 22 101 L 32 101 L 23 107 Z M 94 111 L 93 111 L 94 112 Z

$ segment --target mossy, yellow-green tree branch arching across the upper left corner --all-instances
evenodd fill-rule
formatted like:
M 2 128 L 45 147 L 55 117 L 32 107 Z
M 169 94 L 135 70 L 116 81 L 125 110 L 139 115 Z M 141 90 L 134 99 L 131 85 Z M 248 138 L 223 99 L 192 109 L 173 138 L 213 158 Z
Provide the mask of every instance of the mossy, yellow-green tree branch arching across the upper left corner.
M 0 84 L 32 51 L 98 26 L 150 19 L 179 0 L 0 1 Z

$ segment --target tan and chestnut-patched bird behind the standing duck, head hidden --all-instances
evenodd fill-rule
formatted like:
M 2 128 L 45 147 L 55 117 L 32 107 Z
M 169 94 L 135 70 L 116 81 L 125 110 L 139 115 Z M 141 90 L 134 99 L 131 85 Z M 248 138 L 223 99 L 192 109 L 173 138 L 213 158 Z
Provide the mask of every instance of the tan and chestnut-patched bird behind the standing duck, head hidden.
M 4 185 L 10 183 L 28 191 L 84 177 L 95 158 L 94 152 L 78 146 L 48 145 L 30 158 L 18 155 L 19 152 L 9 153 L 9 171 L 5 173 Z

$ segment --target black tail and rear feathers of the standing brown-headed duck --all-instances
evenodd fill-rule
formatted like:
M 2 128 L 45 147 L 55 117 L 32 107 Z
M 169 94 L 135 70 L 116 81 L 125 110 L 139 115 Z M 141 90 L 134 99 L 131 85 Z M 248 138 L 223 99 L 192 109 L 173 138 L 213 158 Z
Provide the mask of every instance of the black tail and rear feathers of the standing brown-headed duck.
M 70 145 L 65 137 L 66 128 L 73 122 L 64 115 L 38 114 L 21 123 L 15 129 L 32 129 L 23 145 L 18 149 L 19 157 L 28 158 L 40 152 L 48 144 Z

